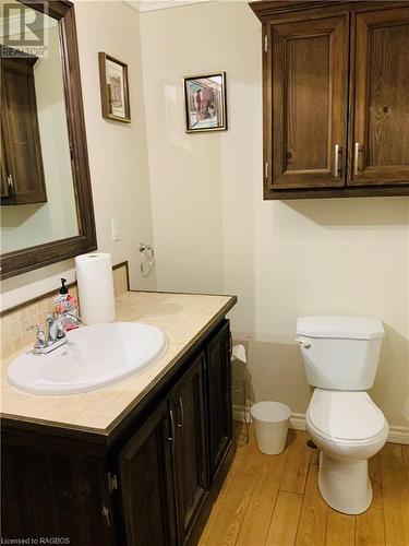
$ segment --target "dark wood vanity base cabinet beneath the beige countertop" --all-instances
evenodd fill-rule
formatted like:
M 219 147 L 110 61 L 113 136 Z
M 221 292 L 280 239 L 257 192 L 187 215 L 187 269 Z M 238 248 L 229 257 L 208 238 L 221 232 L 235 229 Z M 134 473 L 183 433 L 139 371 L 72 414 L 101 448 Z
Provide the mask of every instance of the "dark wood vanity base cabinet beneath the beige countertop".
M 234 302 L 105 432 L 2 418 L 4 538 L 195 544 L 233 455 Z

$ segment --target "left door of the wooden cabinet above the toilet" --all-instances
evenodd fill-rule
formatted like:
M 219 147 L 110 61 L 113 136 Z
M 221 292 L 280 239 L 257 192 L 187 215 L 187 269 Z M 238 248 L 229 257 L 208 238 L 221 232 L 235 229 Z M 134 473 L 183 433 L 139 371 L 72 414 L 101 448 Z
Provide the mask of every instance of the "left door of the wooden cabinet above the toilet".
M 267 32 L 267 191 L 345 186 L 348 14 L 272 22 Z

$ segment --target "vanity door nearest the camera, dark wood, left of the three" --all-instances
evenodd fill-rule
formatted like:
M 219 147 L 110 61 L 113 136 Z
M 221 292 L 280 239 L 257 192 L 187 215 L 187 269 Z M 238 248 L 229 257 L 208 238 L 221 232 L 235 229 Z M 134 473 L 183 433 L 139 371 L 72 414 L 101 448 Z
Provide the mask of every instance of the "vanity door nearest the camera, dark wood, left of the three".
M 167 401 L 119 453 L 127 546 L 177 544 Z

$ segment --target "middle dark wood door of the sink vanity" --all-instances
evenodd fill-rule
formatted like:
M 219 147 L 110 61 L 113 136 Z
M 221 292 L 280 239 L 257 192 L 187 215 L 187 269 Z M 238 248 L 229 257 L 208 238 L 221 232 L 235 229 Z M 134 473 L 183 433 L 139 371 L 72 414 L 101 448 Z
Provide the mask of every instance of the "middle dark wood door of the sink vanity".
M 204 354 L 201 353 L 172 392 L 181 544 L 185 543 L 207 495 L 203 368 Z

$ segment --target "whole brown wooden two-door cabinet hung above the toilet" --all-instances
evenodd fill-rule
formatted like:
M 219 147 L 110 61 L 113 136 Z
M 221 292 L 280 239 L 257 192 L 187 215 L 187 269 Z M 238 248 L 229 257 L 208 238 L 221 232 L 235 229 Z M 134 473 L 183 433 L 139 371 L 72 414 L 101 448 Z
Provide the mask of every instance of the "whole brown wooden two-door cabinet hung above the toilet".
M 409 194 L 408 2 L 251 8 L 263 23 L 264 198 Z

